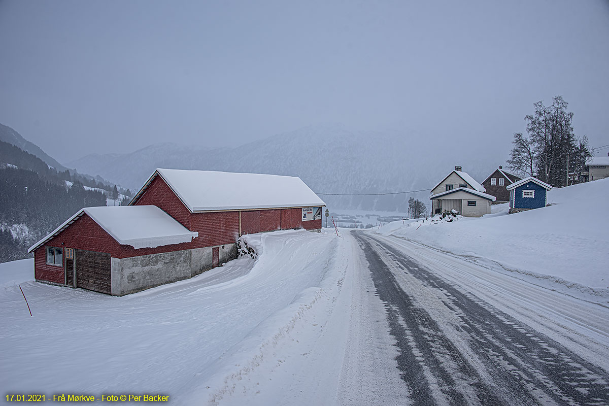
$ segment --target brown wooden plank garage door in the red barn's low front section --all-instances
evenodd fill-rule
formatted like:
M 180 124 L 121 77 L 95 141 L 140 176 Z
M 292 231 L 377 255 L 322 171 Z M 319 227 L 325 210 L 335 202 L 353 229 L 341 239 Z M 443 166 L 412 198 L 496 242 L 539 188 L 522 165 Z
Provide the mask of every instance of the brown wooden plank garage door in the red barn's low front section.
M 111 293 L 110 254 L 76 250 L 76 287 Z

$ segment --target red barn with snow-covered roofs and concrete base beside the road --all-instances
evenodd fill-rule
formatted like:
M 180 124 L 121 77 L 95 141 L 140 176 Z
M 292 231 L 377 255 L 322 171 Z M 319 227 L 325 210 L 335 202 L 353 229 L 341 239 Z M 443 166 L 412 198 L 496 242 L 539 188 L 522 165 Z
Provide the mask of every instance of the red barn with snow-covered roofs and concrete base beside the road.
M 243 234 L 319 230 L 322 206 L 297 177 L 157 169 L 130 206 L 82 209 L 29 252 L 37 281 L 121 296 L 234 259 Z

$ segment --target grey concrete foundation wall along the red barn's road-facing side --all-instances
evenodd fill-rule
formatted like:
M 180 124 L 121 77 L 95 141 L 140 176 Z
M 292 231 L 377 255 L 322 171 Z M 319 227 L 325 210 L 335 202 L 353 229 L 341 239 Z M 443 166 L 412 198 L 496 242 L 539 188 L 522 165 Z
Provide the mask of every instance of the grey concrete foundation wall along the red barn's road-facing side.
M 128 258 L 111 258 L 111 294 L 139 292 L 158 285 L 181 281 L 211 269 L 214 247 Z M 220 245 L 220 265 L 237 257 L 237 244 Z

